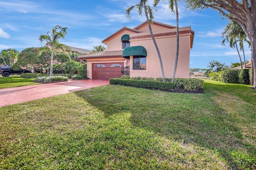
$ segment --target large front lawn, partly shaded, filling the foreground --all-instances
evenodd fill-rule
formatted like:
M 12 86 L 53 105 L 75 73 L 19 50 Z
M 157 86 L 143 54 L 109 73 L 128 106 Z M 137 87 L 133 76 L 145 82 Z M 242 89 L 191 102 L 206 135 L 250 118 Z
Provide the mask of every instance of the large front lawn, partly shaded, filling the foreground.
M 101 86 L 0 107 L 0 169 L 255 169 L 256 91 Z

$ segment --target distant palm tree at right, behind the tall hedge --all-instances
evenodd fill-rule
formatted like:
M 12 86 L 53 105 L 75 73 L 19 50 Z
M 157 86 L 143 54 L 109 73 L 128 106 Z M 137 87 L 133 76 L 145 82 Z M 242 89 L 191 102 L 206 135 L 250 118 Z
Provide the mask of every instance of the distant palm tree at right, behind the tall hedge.
M 229 45 L 231 48 L 236 47 L 240 63 L 241 63 L 241 68 L 242 66 L 242 59 L 238 50 L 238 45 L 237 42 L 239 43 L 240 50 L 242 50 L 243 55 L 244 55 L 244 41 L 246 41 L 249 44 L 249 47 L 251 46 L 250 41 L 248 41 L 246 33 L 243 31 L 242 26 L 239 25 L 235 21 L 230 21 L 224 28 L 224 31 L 222 33 L 222 37 L 225 37 L 225 39 L 222 40 L 222 45 L 225 45 L 224 42 L 227 40 L 229 42 Z M 244 55 L 244 67 L 246 68 L 246 60 L 245 60 L 245 55 Z

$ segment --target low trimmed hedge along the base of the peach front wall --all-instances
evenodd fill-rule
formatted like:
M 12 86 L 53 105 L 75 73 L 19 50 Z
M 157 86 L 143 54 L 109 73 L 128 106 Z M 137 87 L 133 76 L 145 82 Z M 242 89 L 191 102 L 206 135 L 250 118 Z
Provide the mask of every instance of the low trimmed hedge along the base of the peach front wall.
M 176 89 L 187 91 L 198 91 L 204 87 L 204 80 L 198 78 L 175 78 L 171 83 L 171 78 L 166 78 L 166 82 L 162 82 L 162 78 L 146 78 L 122 76 L 121 78 L 110 79 L 110 84 L 120 84 L 124 86 L 135 86 L 140 88 L 148 88 L 154 90 L 173 91 Z

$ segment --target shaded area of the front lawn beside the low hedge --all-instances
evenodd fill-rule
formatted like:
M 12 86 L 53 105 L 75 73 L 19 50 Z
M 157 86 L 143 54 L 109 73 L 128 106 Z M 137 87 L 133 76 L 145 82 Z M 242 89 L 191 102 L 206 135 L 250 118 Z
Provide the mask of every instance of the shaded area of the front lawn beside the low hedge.
M 256 109 L 252 107 L 256 92 L 246 86 L 210 83 L 205 83 L 204 90 L 204 94 L 177 94 L 104 86 L 75 93 L 106 117 L 130 112 L 130 122 L 136 127 L 184 146 L 218 152 L 229 168 L 256 168 Z M 252 162 L 240 158 L 237 150 Z

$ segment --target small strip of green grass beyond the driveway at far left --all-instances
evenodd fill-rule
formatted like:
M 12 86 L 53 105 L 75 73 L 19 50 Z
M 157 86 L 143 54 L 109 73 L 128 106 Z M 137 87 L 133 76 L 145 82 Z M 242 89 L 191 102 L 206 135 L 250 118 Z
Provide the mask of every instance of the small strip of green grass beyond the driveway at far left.
M 33 82 L 36 78 L 21 78 L 20 76 L 0 77 L 0 88 L 30 86 L 41 84 Z

